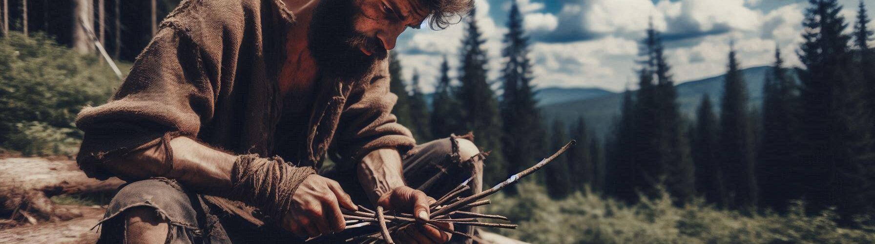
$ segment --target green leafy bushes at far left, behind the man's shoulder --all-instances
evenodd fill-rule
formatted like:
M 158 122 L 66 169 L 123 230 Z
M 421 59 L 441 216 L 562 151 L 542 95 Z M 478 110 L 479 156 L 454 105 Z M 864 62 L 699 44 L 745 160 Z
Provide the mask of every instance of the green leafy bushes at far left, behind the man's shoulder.
M 104 103 L 119 84 L 102 62 L 40 33 L 0 38 L 0 146 L 32 155 L 75 152 L 76 114 Z

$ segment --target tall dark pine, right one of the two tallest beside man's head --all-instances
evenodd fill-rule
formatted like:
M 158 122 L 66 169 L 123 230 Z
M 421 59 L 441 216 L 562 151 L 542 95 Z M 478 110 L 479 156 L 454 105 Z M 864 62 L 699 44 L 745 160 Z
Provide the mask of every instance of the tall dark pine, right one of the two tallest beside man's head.
M 531 60 L 528 58 L 528 37 L 522 29 L 522 15 L 515 2 L 511 4 L 504 37 L 503 89 L 500 111 L 504 137 L 502 149 L 507 159 L 507 175 L 520 172 L 539 157 L 542 151 L 543 128 L 535 107 L 535 91 L 531 85 Z

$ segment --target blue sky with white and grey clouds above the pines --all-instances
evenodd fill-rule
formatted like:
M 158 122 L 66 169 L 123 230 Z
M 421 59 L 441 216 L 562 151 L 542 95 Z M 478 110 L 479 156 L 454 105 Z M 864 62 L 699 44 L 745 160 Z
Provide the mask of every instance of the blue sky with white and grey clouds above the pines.
M 743 67 L 774 62 L 781 48 L 789 65 L 802 42 L 807 0 L 474 0 L 476 17 L 489 56 L 489 78 L 496 88 L 503 60 L 501 40 L 507 10 L 516 1 L 524 15 L 534 63 L 533 83 L 545 87 L 634 89 L 639 40 L 648 20 L 663 32 L 666 54 L 677 83 L 718 76 L 726 71 L 734 42 Z M 859 0 L 840 0 L 848 30 L 857 21 Z M 864 1 L 875 17 L 875 0 Z M 423 91 L 434 90 L 444 57 L 458 70 L 465 24 L 445 30 L 409 29 L 398 52 L 406 80 L 417 72 Z

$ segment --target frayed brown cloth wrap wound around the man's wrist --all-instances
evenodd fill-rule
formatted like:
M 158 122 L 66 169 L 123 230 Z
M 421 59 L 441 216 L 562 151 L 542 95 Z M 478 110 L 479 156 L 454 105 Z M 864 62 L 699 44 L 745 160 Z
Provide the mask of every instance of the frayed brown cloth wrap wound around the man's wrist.
M 311 166 L 292 166 L 283 159 L 261 158 L 258 154 L 240 155 L 231 171 L 233 184 L 229 199 L 258 207 L 279 220 L 291 207 L 291 197 L 307 176 Z

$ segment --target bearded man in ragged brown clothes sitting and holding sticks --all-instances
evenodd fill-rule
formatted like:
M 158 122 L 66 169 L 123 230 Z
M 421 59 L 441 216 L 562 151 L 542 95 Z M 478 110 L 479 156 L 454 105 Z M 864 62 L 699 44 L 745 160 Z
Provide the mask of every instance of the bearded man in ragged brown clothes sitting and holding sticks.
M 341 208 L 379 205 L 428 220 L 434 199 L 414 188 L 439 196 L 474 175 L 479 189 L 472 138 L 416 146 L 395 123 L 386 60 L 403 30 L 426 19 L 441 29 L 470 8 L 471 0 L 179 3 L 109 103 L 77 118 L 81 169 L 130 182 L 109 204 L 99 242 L 337 241 Z M 321 172 L 334 180 L 316 174 L 326 153 L 336 165 Z M 426 225 L 396 235 L 451 238 Z

